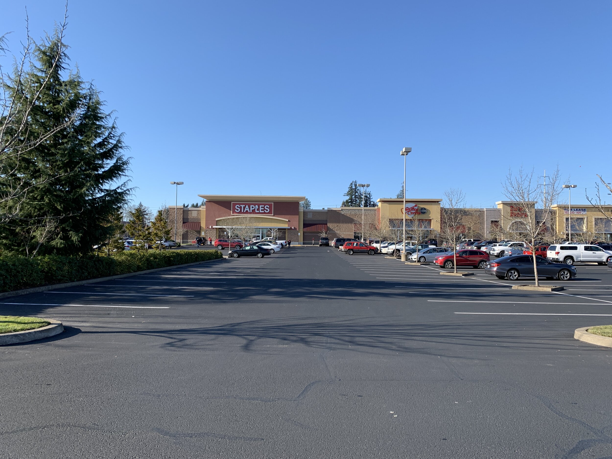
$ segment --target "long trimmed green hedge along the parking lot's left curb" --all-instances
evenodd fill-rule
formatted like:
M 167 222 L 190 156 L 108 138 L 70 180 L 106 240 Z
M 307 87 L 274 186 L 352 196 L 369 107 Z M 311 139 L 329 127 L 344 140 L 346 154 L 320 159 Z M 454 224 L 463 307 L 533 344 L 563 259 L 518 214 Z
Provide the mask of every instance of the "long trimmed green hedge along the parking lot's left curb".
M 4 255 L 0 256 L 0 291 L 95 279 L 217 258 L 223 258 L 218 250 L 147 250 L 119 252 L 110 256 L 45 255 L 34 258 Z

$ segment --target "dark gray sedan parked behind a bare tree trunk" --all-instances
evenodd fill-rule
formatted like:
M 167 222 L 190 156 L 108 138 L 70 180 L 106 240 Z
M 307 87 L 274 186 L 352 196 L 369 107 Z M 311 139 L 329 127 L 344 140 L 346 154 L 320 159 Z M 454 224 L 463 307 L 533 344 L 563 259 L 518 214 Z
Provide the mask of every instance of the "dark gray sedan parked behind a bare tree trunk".
M 574 266 L 564 263 L 553 263 L 541 256 L 535 257 L 538 277 L 572 280 L 577 272 Z M 519 277 L 534 277 L 534 260 L 531 255 L 502 256 L 494 261 L 488 261 L 485 272 L 497 276 L 498 279 L 517 280 Z

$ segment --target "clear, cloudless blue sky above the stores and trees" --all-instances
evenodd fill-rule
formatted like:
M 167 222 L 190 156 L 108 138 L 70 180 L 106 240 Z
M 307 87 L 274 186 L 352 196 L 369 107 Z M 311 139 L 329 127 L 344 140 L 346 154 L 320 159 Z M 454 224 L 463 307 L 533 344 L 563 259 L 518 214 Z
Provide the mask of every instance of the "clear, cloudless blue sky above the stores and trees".
M 18 51 L 62 1 L 5 2 Z M 508 168 L 559 164 L 585 203 L 612 179 L 612 2 L 225 1 L 69 4 L 67 43 L 116 110 L 136 202 L 306 195 L 349 182 L 409 198 L 501 200 Z M 611 180 L 612 181 L 612 180 Z M 581 191 L 580 191 L 581 190 Z M 580 196 L 580 198 L 578 198 Z

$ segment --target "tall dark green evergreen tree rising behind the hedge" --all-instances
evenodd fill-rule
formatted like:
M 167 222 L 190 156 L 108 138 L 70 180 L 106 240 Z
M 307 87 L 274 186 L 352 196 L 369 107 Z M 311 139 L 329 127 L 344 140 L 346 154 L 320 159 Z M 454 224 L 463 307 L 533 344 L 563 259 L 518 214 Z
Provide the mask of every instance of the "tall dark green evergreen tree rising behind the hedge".
M 91 252 L 113 234 L 108 221 L 130 193 L 123 134 L 113 113 L 103 110 L 99 91 L 78 70 L 64 76 L 68 57 L 57 31 L 35 46 L 34 56 L 25 77 L 5 89 L 11 98 L 40 92 L 29 113 L 17 113 L 28 124 L 20 141 L 46 141 L 7 160 L 13 161 L 14 173 L 0 181 L 0 192 L 6 194 L 18 181 L 30 188 L 25 198 L 2 203 L 2 214 L 17 218 L 0 226 L 0 247 L 21 253 L 32 247 L 38 253 Z M 25 242 L 24 234 L 34 236 Z

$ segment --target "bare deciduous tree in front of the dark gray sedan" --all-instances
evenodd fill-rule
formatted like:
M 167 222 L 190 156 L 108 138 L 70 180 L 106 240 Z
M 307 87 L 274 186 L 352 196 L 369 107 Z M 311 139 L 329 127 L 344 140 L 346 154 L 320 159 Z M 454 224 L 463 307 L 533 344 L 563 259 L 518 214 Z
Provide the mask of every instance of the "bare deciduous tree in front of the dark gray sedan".
M 537 274 L 537 258 L 535 247 L 547 236 L 550 228 L 551 206 L 558 201 L 561 194 L 561 173 L 556 168 L 551 176 L 547 177 L 547 184 L 540 184 L 534 171 L 526 172 L 522 166 L 516 174 L 508 171 L 502 190 L 506 198 L 516 203 L 515 210 L 510 211 L 508 229 L 517 239 L 523 239 L 532 253 L 534 263 L 535 285 L 540 285 Z M 535 206 L 540 204 L 542 209 L 536 217 Z

